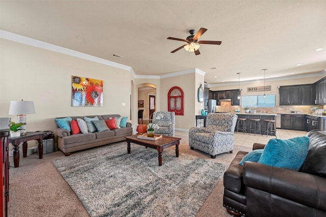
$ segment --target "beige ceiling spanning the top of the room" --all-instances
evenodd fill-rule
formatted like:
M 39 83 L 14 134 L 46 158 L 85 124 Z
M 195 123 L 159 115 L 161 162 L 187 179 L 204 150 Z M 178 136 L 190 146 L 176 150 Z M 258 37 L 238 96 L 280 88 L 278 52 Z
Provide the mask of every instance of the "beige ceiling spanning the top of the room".
M 326 1 L 1 1 L 1 30 L 132 67 L 136 75 L 193 68 L 223 81 L 326 69 Z M 189 30 L 208 31 L 201 55 L 180 49 Z M 314 51 L 324 48 L 321 51 Z M 112 54 L 124 58 L 112 57 Z M 296 64 L 302 64 L 296 66 Z M 211 69 L 216 67 L 216 69 Z M 291 74 L 295 73 L 295 74 Z M 322 73 L 325 73 L 322 72 Z M 216 77 L 214 77 L 216 76 Z

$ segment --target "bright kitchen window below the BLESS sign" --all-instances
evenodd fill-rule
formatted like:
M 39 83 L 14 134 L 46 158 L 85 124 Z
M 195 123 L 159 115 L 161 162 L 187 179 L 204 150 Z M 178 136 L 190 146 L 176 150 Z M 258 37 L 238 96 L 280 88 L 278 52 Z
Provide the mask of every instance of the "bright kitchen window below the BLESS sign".
M 266 94 L 266 98 L 263 95 L 244 95 L 242 96 L 242 106 L 246 107 L 275 107 L 276 106 L 276 94 Z

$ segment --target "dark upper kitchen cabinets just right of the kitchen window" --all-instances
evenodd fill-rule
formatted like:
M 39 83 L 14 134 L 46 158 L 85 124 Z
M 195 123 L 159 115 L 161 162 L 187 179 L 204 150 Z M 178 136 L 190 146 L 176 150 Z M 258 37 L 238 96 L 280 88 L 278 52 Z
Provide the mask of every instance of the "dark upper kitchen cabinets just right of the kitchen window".
M 282 86 L 279 89 L 280 105 L 313 105 L 313 85 Z

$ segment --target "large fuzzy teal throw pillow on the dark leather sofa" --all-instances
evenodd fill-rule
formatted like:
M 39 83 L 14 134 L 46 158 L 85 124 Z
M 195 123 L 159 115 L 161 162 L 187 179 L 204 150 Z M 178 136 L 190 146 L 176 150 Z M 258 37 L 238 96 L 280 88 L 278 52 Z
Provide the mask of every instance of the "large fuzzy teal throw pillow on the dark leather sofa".
M 271 139 L 266 144 L 258 163 L 298 171 L 309 149 L 309 137 L 288 140 Z

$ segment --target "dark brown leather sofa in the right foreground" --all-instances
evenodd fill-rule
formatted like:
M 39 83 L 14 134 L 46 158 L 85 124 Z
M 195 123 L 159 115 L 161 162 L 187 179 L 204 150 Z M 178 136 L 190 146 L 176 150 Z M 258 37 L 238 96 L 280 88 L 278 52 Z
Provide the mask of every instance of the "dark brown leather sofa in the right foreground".
M 241 159 L 239 151 L 224 174 L 223 204 L 234 216 L 326 216 L 326 131 L 312 130 L 299 171 Z M 263 149 L 255 143 L 253 150 Z

